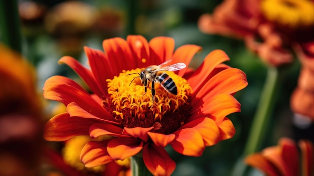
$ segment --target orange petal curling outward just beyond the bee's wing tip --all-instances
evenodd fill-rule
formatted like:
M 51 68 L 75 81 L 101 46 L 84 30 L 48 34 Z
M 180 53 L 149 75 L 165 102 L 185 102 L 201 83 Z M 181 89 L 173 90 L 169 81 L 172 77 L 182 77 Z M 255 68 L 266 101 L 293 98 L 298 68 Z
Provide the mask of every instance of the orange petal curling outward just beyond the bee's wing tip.
M 183 46 L 179 47 L 178 49 L 176 49 L 176 51 L 173 55 L 174 59 L 171 62 L 172 63 L 183 62 L 188 66 L 190 64 L 193 56 L 201 50 L 202 50 L 202 47 L 197 46 L 197 45 L 183 45 Z M 188 67 L 186 67 L 182 70 L 179 70 L 177 72 L 177 75 L 182 77 L 187 69 L 188 69 Z

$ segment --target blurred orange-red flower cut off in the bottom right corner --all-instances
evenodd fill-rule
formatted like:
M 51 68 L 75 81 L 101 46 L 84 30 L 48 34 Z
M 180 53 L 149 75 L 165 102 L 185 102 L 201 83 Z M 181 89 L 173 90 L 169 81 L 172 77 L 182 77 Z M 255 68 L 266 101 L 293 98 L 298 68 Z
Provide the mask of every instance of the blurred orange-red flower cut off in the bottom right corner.
M 249 155 L 245 158 L 245 162 L 270 176 L 313 175 L 313 144 L 301 140 L 298 146 L 301 153 L 293 140 L 281 138 L 277 146 Z

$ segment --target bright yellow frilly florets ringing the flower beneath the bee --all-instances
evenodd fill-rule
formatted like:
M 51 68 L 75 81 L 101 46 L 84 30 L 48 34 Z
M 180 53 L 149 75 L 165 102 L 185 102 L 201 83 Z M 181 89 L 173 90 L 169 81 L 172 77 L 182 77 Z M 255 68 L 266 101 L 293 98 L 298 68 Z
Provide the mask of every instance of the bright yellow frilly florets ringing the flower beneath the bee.
M 120 75 L 115 76 L 112 80 L 108 79 L 108 93 L 111 103 L 114 106 L 113 113 L 123 119 L 123 112 L 127 110 L 133 117 L 144 119 L 145 114 L 149 111 L 153 112 L 155 120 L 161 120 L 166 112 L 174 112 L 180 106 L 187 103 L 188 97 L 192 92 L 191 87 L 185 79 L 173 72 L 165 71 L 175 82 L 177 87 L 177 95 L 167 92 L 159 83 L 155 83 L 155 102 L 152 102 L 151 82 L 147 86 L 145 93 L 144 85 L 140 78 L 134 77 L 137 74 L 127 75 L 131 73 L 140 73 L 142 69 L 131 71 L 122 71 Z M 131 83 L 131 85 L 129 85 Z

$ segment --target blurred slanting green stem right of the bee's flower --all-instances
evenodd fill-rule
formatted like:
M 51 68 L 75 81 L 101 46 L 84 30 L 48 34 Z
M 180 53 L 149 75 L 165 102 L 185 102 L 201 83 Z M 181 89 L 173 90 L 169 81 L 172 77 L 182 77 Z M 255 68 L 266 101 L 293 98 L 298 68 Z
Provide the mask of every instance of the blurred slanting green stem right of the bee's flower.
M 245 156 L 257 152 L 265 140 L 268 122 L 275 106 L 279 76 L 280 74 L 277 68 L 268 67 L 266 82 L 244 149 Z

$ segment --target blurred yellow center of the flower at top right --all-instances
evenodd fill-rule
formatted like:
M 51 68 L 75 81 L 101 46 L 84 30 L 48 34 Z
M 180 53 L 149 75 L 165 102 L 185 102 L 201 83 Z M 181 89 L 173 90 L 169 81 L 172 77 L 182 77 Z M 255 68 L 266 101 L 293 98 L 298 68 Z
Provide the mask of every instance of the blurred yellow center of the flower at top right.
M 265 17 L 292 29 L 314 25 L 314 3 L 308 0 L 263 0 Z

